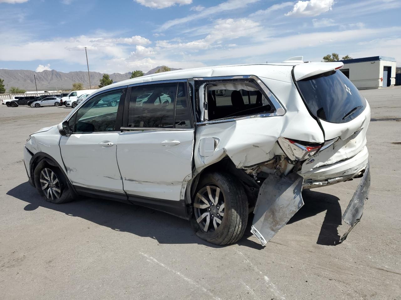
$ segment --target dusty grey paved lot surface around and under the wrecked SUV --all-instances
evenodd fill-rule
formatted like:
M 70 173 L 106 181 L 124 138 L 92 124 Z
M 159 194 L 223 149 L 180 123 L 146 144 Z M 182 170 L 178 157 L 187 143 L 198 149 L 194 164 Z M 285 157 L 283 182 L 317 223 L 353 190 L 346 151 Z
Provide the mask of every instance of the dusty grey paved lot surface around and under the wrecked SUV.
M 28 135 L 71 108 L 0 107 L 0 299 L 401 299 L 401 88 L 362 91 L 371 192 L 348 238 L 341 215 L 358 180 L 304 192 L 264 248 L 218 247 L 168 214 L 81 198 L 51 204 L 28 182 Z

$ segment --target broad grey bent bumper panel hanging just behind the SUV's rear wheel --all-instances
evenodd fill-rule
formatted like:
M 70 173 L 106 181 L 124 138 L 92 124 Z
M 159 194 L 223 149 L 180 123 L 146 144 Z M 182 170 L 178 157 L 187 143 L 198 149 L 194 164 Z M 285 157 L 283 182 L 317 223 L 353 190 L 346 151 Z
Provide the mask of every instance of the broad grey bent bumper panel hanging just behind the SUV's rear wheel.
M 259 190 L 251 232 L 262 246 L 304 205 L 304 178 L 296 173 L 280 177 L 269 174 Z

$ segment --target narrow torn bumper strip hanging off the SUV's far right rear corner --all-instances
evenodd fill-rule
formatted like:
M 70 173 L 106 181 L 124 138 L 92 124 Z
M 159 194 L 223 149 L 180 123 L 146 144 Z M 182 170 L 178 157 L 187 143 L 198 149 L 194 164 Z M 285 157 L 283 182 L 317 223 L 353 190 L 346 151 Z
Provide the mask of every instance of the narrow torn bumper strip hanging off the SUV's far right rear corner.
M 347 238 L 348 233 L 355 227 L 356 224 L 360 221 L 363 215 L 363 207 L 365 205 L 365 201 L 368 200 L 369 190 L 371 187 L 371 171 L 369 167 L 369 163 L 366 166 L 365 173 L 360 180 L 360 184 L 356 191 L 354 192 L 354 196 L 348 207 L 346 208 L 344 214 L 342 215 L 342 220 L 346 222 L 351 227 L 347 230 L 347 232 L 340 238 L 340 243 L 344 242 Z

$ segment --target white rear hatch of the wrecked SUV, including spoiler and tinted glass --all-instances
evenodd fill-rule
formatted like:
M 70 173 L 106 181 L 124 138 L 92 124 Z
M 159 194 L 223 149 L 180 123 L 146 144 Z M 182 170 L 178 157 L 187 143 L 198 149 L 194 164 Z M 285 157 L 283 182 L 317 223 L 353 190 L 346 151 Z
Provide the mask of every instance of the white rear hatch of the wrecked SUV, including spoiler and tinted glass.
M 366 99 L 339 70 L 342 62 L 304 63 L 294 67 L 294 80 L 310 114 L 318 121 L 324 140 L 338 138 L 326 161 L 314 160 L 308 168 L 332 164 L 356 155 L 366 145 L 371 110 Z M 328 156 L 322 156 L 328 158 Z

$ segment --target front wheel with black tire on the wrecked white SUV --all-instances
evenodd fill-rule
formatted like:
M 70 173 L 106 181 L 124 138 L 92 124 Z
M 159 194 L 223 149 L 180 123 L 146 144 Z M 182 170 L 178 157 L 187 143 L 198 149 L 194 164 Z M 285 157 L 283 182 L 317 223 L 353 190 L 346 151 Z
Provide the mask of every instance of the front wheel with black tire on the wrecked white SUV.
M 61 204 L 73 200 L 63 172 L 51 166 L 46 160 L 42 160 L 36 166 L 34 181 L 36 190 L 47 202 Z

